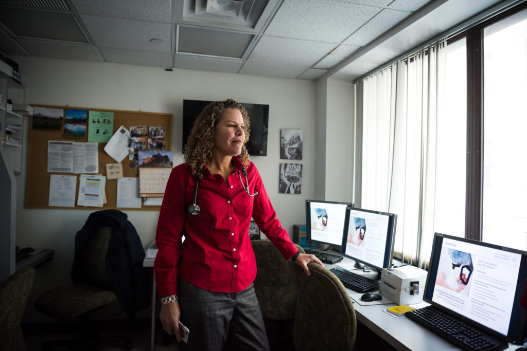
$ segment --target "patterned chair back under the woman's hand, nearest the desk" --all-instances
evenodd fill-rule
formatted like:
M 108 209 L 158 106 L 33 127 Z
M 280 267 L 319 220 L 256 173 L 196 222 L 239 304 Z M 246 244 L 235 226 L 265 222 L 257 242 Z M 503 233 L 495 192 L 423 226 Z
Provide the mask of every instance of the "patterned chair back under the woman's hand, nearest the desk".
M 352 299 L 340 280 L 316 263 L 310 276 L 297 270 L 297 307 L 293 331 L 296 350 L 352 350 L 357 322 Z

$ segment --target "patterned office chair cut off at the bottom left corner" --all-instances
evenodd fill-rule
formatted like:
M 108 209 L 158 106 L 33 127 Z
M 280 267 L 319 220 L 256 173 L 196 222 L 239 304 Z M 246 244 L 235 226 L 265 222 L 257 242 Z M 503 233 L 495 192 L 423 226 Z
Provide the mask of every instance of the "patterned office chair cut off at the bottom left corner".
M 0 350 L 27 350 L 20 323 L 34 276 L 33 267 L 24 267 L 0 284 Z

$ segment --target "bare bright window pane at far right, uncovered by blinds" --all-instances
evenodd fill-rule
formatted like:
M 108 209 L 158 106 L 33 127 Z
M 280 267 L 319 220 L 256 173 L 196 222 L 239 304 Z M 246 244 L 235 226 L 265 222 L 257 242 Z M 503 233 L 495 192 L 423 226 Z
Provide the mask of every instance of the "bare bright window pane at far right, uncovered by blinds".
M 527 9 L 483 28 L 485 242 L 527 250 Z

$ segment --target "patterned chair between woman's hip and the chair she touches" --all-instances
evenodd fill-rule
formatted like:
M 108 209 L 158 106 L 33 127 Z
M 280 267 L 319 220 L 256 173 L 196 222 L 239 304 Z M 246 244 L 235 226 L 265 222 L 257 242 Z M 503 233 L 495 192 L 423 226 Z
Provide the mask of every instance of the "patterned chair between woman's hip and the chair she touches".
M 292 325 L 297 306 L 296 264 L 286 260 L 269 240 L 252 240 L 256 256 L 256 296 L 271 350 L 292 349 Z M 300 253 L 304 249 L 295 245 Z

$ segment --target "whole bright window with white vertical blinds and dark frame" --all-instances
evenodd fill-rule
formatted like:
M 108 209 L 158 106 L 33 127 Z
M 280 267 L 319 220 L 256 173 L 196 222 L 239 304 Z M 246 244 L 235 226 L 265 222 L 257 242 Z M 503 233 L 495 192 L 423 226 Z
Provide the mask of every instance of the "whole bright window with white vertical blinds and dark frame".
M 397 258 L 426 265 L 435 232 L 527 250 L 526 7 L 359 83 L 356 202 L 398 215 Z

